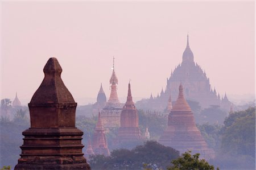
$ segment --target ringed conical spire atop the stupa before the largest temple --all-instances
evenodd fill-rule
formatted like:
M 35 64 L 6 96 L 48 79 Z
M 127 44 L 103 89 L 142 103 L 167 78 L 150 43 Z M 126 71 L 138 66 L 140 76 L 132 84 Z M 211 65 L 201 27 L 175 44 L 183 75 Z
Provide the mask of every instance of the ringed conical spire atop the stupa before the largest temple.
M 179 86 L 179 96 L 175 102 L 174 107 L 172 107 L 172 111 L 191 111 L 191 107 L 188 105 L 187 101 L 184 98 L 183 86 L 181 82 Z

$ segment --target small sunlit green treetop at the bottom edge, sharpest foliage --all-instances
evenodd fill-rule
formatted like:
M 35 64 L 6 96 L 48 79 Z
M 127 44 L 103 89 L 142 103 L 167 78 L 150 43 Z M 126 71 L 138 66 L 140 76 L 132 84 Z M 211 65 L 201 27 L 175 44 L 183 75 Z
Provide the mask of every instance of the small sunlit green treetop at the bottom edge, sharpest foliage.
M 191 151 L 185 152 L 178 159 L 172 160 L 173 164 L 171 167 L 168 167 L 167 170 L 192 170 L 192 169 L 209 169 L 214 170 L 213 165 L 204 159 L 199 159 L 200 154 L 191 155 Z M 217 168 L 218 169 L 218 168 Z

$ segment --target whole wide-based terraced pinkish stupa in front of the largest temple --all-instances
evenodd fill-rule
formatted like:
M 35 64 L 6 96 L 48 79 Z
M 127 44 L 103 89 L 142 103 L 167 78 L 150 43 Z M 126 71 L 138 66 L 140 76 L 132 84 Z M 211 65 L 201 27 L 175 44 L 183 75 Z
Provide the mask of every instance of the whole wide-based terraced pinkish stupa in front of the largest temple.
M 184 98 L 183 86 L 179 85 L 179 96 L 168 115 L 168 125 L 159 143 L 170 146 L 184 153 L 191 150 L 192 153 L 200 153 L 204 159 L 212 159 L 214 151 L 208 148 L 207 143 L 196 127 L 195 119 Z

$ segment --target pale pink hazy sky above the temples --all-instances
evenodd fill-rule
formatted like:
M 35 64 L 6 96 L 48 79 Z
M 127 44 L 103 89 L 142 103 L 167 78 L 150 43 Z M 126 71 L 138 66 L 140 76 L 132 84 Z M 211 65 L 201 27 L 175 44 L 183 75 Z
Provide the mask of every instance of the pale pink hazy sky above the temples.
M 30 101 L 49 57 L 79 105 L 110 94 L 112 57 L 125 98 L 156 96 L 181 63 L 195 62 L 217 93 L 254 94 L 254 2 L 2 2 L 1 98 Z M 92 100 L 93 102 L 93 100 Z

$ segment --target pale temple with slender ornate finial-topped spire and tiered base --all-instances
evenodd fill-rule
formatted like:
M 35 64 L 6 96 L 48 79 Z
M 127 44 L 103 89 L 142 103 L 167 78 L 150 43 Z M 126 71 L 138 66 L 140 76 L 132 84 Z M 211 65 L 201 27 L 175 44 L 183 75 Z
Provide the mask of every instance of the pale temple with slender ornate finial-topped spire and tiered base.
M 120 114 L 122 111 L 122 103 L 119 102 L 117 96 L 117 84 L 118 79 L 115 74 L 114 57 L 113 57 L 113 72 L 110 77 L 111 92 L 108 102 L 101 111 L 101 120 L 105 128 L 119 127 L 120 126 Z

